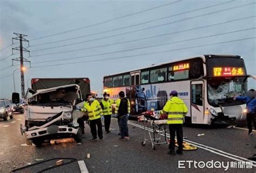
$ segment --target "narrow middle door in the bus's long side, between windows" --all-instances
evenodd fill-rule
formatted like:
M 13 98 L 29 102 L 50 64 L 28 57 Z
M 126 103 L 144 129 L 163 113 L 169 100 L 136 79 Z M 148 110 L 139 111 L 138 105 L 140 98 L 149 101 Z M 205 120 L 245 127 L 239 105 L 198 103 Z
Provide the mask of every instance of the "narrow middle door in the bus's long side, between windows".
M 131 113 L 139 113 L 140 99 L 139 95 L 142 90 L 140 88 L 140 71 L 133 71 L 130 73 L 130 98 L 131 98 Z M 143 92 L 143 91 L 142 91 Z

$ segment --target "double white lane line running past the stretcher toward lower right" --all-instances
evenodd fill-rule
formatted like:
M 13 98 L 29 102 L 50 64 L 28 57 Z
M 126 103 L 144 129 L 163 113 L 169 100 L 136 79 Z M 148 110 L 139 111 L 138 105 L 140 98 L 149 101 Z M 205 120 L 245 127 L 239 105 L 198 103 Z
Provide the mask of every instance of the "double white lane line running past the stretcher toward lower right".
M 133 122 L 128 122 L 128 124 L 130 124 L 130 125 L 132 125 L 132 126 L 137 126 L 137 127 L 139 127 L 139 128 L 142 128 L 142 129 L 146 129 L 147 131 L 150 131 L 150 132 L 153 132 L 153 129 L 147 128 L 147 127 L 145 128 L 144 126 L 140 126 L 140 125 L 135 124 L 135 123 L 133 123 Z M 161 135 L 164 136 L 164 134 L 161 134 Z M 167 136 L 167 137 L 170 137 L 170 134 L 166 133 L 166 136 Z M 243 162 L 245 162 L 245 161 L 246 161 L 246 162 L 252 162 L 252 163 L 254 163 L 253 166 L 256 167 L 256 162 L 255 162 L 255 161 L 252 161 L 252 160 L 248 160 L 247 158 L 240 157 L 240 156 L 237 156 L 237 155 L 233 155 L 233 154 L 230 154 L 230 153 L 226 153 L 226 152 L 224 152 L 224 151 L 222 151 L 222 150 L 219 150 L 219 149 L 216 149 L 216 148 L 212 148 L 212 147 L 208 147 L 208 146 L 205 146 L 205 145 L 202 145 L 202 144 L 200 144 L 200 143 L 193 142 L 193 141 L 190 141 L 190 140 L 185 140 L 185 139 L 184 139 L 184 141 L 189 142 L 189 143 L 193 144 L 194 146 L 196 146 L 196 147 L 198 147 L 198 148 L 207 150 L 207 151 L 209 151 L 209 152 L 211 152 L 211 153 L 218 154 L 218 155 L 221 155 L 221 156 L 224 156 L 224 157 L 227 157 L 227 158 L 231 158 L 231 159 L 233 159 L 233 160 L 235 160 L 235 161 L 240 161 L 240 162 L 242 162 L 242 161 L 243 161 Z M 235 158 L 235 157 L 237 157 L 237 158 Z

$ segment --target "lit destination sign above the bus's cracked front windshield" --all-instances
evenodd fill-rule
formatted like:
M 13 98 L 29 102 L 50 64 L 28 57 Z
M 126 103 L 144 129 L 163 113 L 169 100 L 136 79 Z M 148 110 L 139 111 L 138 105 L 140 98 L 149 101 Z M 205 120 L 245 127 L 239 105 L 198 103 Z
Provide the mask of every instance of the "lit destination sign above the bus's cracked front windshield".
M 214 67 L 213 76 L 242 76 L 245 75 L 244 68 L 240 67 Z

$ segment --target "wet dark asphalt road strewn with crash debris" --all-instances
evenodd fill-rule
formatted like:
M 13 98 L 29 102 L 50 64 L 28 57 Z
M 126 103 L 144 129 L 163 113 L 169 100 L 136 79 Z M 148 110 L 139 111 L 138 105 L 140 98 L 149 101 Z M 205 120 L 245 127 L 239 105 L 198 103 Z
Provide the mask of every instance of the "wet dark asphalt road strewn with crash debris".
M 149 132 L 144 131 L 142 123 L 129 120 L 130 141 L 120 141 L 117 135 L 117 120 L 112 119 L 110 134 L 104 134 L 102 141 L 91 141 L 89 126 L 85 128 L 85 135 L 80 145 L 72 139 L 57 140 L 45 143 L 42 147 L 26 146 L 25 138 L 19 131 L 19 124 L 23 120 L 22 114 L 15 114 L 14 119 L 3 121 L 0 119 L 0 172 L 10 172 L 13 169 L 28 164 L 38 163 L 56 158 L 55 160 L 33 165 L 21 172 L 37 172 L 49 168 L 60 160 L 60 157 L 75 158 L 75 162 L 52 168 L 45 172 L 82 172 L 83 163 L 89 172 L 223 172 L 225 168 L 195 168 L 194 163 L 184 163 L 184 169 L 178 168 L 178 161 L 204 161 L 213 163 L 219 161 L 230 164 L 228 172 L 256 172 L 256 162 L 252 168 L 231 168 L 231 164 L 243 165 L 248 163 L 247 157 L 256 154 L 256 132 L 248 136 L 244 128 L 226 128 L 225 126 L 184 127 L 184 136 L 198 149 L 184 152 L 183 155 L 167 155 L 167 145 L 157 145 L 152 149 L 151 143 L 145 146 L 141 143 L 149 138 Z M 103 127 L 104 128 L 104 127 Z M 151 131 L 150 127 L 148 129 Z M 144 133 L 146 132 L 146 133 Z M 204 136 L 197 136 L 204 133 Z M 161 136 L 163 139 L 164 136 Z M 86 158 L 90 153 L 91 157 Z M 35 160 L 36 159 L 36 160 Z M 64 159 L 63 163 L 72 161 Z M 79 161 L 79 163 L 78 163 Z M 241 163 L 239 163 L 241 162 Z M 82 164 L 81 164 L 82 163 Z M 248 164 L 251 164 L 248 163 Z M 198 164 L 196 164 L 198 167 Z M 255 166 L 255 167 L 254 167 Z M 218 165 L 217 165 L 218 167 Z M 245 165 L 246 167 L 246 165 Z

